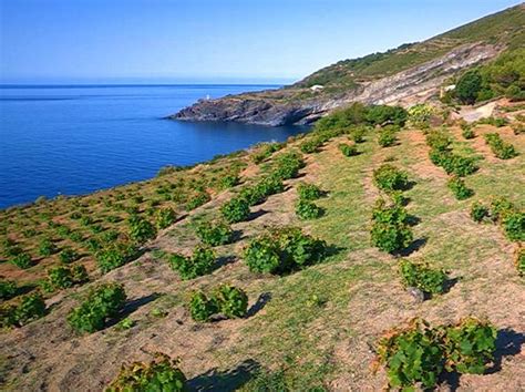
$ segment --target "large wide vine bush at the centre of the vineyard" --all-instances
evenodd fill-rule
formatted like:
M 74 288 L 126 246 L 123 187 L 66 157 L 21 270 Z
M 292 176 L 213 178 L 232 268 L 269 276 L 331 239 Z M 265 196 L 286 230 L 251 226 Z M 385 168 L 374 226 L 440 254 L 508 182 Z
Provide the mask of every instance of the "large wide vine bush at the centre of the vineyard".
M 299 228 L 275 228 L 251 239 L 244 258 L 254 272 L 282 275 L 319 262 L 326 248 L 325 241 L 302 234 Z

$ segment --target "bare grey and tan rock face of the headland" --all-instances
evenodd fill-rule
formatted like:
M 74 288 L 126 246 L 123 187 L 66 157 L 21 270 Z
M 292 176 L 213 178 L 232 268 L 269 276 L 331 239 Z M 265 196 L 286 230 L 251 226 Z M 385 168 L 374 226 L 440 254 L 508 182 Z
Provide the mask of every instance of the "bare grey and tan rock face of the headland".
M 169 116 L 173 120 L 236 121 L 250 124 L 280 126 L 307 124 L 330 111 L 351 102 L 367 104 L 411 105 L 439 93 L 444 80 L 464 68 L 496 56 L 502 48 L 473 43 L 459 47 L 443 56 L 399 72 L 392 76 L 362 82 L 357 87 L 337 95 L 319 94 L 303 100 L 294 93 L 309 89 L 287 89 L 290 99 L 272 97 L 271 91 L 200 100 Z M 278 93 L 274 93 L 278 94 Z

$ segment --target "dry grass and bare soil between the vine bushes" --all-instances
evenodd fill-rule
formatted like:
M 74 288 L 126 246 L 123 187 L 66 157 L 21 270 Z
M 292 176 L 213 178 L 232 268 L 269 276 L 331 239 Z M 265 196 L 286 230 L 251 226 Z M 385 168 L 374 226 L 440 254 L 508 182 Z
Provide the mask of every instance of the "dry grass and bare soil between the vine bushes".
M 476 192 L 473 199 L 497 194 L 523 206 L 525 195 L 518 192 L 525 187 L 523 135 L 513 135 L 508 127 L 497 130 L 521 153 L 514 159 L 500 161 L 481 138 L 481 134 L 488 131 L 495 130 L 478 127 L 476 138 L 464 141 L 459 128 L 452 130 L 459 151 L 484 157 L 480 172 L 467 178 Z M 93 382 L 110 380 L 120 362 L 147 358 L 145 348 L 145 352 L 156 349 L 181 357 L 194 386 L 239 386 L 246 381 L 246 376 L 239 375 L 240 370 L 257 368 L 239 368 L 239 364 L 256 363 L 274 372 L 284 369 L 282 378 L 278 379 L 294 390 L 316 385 L 378 390 L 384 374 L 370 372 L 369 363 L 373 359 L 370 345 L 383 330 L 406 318 L 423 316 L 431 321 L 446 322 L 470 313 L 486 314 L 501 329 L 503 341 L 516 339 L 523 327 L 518 307 L 525 298 L 523 281 L 512 264 L 513 245 L 496 226 L 477 225 L 470 219 L 467 210 L 473 199 L 456 202 L 452 197 L 445 186 L 446 176 L 428 159 L 421 131 L 403 131 L 400 143 L 389 148 L 380 148 L 374 136 L 369 135 L 360 145 L 362 153 L 351 158 L 343 157 L 337 149 L 341 140 L 344 137 L 331 141 L 318 154 L 308 155 L 302 178 L 290 180 L 286 193 L 271 196 L 254 208 L 255 213 L 264 214 L 235 225 L 241 240 L 219 248 L 219 256 L 228 262 L 213 275 L 182 282 L 158 259 L 158 250 L 109 274 L 104 279 L 122 281 L 131 299 L 142 303 L 130 316 L 137 322 L 132 330 L 122 332 L 111 327 L 90 337 L 75 338 L 64 322 L 68 309 L 78 300 L 73 293 L 55 299 L 56 309 L 24 328 L 23 338 L 17 333 L 2 337 L 2 345 L 12 355 L 3 365 L 3 373 L 11 374 L 10 380 L 14 382 L 11 388 L 37 386 L 40 382 L 51 386 L 64 382 L 93 386 Z M 394 258 L 369 245 L 369 217 L 378 196 L 371 174 L 387 158 L 405 168 L 415 180 L 415 186 L 408 192 L 411 199 L 408 208 L 421 220 L 414 227 L 415 238 L 425 238 L 426 243 L 410 258 L 446 268 L 453 278 L 460 279 L 450 292 L 424 303 L 414 303 L 402 289 Z M 245 175 L 249 179 L 257 173 L 250 164 Z M 319 202 L 326 215 L 310 223 L 298 220 L 294 214 L 294 185 L 305 179 L 329 193 Z M 228 193 L 220 193 L 196 214 L 216 215 L 220 203 L 228 197 Z M 326 262 L 291 276 L 250 274 L 238 258 L 243 244 L 265 226 L 282 224 L 301 226 L 339 251 Z M 188 218 L 179 221 L 151 247 L 189 251 L 196 244 L 191 226 Z M 250 303 L 258 298 L 271 298 L 248 319 L 196 324 L 183 309 L 187 292 L 222 281 L 246 289 Z M 159 297 L 145 301 L 153 292 Z M 155 309 L 167 311 L 167 317 L 152 317 Z M 54 354 L 47 355 L 50 351 Z M 28 359 L 23 352 L 31 352 L 35 360 Z M 22 368 L 27 368 L 28 373 L 22 373 Z M 218 370 L 207 372 L 215 368 Z M 484 376 L 462 376 L 462 383 L 473 390 L 518 390 L 524 375 L 523 361 L 504 359 L 501 371 Z M 244 388 L 249 390 L 250 383 Z

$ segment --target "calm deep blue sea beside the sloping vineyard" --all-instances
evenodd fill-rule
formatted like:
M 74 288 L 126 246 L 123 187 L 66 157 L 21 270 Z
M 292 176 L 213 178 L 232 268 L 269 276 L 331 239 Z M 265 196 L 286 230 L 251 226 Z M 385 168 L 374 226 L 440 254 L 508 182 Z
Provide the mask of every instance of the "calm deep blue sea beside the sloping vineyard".
M 206 95 L 269 87 L 276 86 L 1 86 L 0 208 L 145 179 L 164 165 L 189 165 L 300 132 L 162 120 Z

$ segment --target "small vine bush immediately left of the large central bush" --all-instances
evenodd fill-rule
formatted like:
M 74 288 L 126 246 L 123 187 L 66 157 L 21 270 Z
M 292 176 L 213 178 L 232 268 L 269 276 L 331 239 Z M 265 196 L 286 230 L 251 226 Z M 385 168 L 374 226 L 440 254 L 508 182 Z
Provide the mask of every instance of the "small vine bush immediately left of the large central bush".
M 169 266 L 176 270 L 181 279 L 195 279 L 212 272 L 215 266 L 215 252 L 202 245 L 197 245 L 192 257 L 174 254 L 169 257 Z

